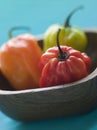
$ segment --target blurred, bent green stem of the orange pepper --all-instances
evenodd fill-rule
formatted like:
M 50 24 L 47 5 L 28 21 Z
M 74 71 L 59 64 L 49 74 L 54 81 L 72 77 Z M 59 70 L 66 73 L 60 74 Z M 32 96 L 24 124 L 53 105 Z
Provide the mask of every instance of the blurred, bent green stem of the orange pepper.
M 17 26 L 17 27 L 12 27 L 9 32 L 8 32 L 8 36 L 9 36 L 9 39 L 11 39 L 13 37 L 13 31 L 16 31 L 16 30 L 26 30 L 26 31 L 29 31 L 31 32 L 31 29 L 29 27 L 26 27 L 26 26 Z

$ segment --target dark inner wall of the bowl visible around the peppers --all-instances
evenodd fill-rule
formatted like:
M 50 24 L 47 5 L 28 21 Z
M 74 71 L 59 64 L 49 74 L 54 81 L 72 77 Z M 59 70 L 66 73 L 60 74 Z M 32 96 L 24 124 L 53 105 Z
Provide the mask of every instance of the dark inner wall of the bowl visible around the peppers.
M 97 67 L 97 32 L 87 30 L 85 31 L 87 38 L 88 38 L 88 46 L 85 52 L 91 57 L 92 59 L 92 68 L 91 72 L 93 72 Z M 38 43 L 41 48 L 43 48 L 43 36 L 38 38 Z M 10 90 L 15 91 L 13 87 L 9 84 L 7 79 L 2 75 L 0 72 L 0 89 L 1 90 Z

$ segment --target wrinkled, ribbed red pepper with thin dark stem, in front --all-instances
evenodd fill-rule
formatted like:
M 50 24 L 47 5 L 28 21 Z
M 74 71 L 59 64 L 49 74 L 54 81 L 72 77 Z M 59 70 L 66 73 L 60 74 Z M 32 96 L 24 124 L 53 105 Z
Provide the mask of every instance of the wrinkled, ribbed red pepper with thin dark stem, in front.
M 91 59 L 72 47 L 59 45 L 49 48 L 39 62 L 41 77 L 39 87 L 50 87 L 71 83 L 86 77 L 90 73 Z

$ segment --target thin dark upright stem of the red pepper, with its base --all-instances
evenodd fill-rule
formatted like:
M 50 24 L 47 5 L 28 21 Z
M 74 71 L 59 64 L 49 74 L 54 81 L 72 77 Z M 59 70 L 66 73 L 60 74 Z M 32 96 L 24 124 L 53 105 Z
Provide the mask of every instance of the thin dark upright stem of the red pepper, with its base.
M 68 58 L 68 54 L 66 52 L 63 52 L 61 47 L 60 47 L 60 43 L 59 43 L 59 34 L 60 34 L 61 29 L 58 30 L 57 33 L 57 47 L 59 49 L 59 55 L 58 55 L 58 59 L 61 61 L 64 61 Z

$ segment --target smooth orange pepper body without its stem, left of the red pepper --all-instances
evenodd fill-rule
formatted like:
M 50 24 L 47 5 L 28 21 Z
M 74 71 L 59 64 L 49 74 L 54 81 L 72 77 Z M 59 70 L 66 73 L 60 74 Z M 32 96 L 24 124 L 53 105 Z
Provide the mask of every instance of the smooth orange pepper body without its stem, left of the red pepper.
M 16 90 L 38 87 L 38 62 L 42 55 L 36 39 L 30 34 L 12 38 L 0 49 L 0 68 Z

